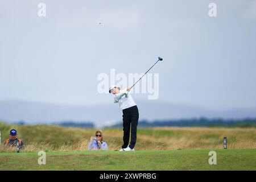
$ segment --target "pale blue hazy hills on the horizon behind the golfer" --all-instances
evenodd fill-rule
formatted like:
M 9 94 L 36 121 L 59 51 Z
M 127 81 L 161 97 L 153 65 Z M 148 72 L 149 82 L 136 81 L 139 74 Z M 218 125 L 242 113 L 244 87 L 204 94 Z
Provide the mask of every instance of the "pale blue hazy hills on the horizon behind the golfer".
M 213 111 L 201 107 L 172 104 L 158 100 L 137 101 L 139 118 L 147 121 L 181 118 L 255 118 L 256 109 Z M 0 119 L 7 122 L 53 123 L 61 121 L 88 121 L 96 127 L 110 126 L 122 121 L 118 104 L 61 106 L 40 102 L 1 101 Z

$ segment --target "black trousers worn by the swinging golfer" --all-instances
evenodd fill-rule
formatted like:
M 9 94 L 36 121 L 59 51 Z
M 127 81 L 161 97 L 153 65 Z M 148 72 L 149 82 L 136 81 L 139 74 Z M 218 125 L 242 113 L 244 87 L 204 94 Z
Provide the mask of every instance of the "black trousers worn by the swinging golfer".
M 137 139 L 137 126 L 139 120 L 139 111 L 137 106 L 132 106 L 127 109 L 123 109 L 123 146 L 126 148 L 129 144 L 130 130 L 131 130 L 131 142 L 129 147 L 134 148 Z

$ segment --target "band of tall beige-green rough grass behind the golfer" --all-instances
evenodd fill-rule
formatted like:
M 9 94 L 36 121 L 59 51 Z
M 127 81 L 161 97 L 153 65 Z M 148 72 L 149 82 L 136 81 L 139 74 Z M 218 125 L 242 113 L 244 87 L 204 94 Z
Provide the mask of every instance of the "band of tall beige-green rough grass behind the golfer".
M 86 151 L 89 138 L 96 131 L 54 126 L 30 126 L 30 129 L 37 130 L 39 137 L 30 135 L 26 126 L 19 126 L 19 137 L 24 139 L 26 146 L 24 152 Z M 103 131 L 108 150 L 119 150 L 122 146 L 122 129 Z M 56 132 L 57 135 L 52 134 Z M 223 137 L 228 138 L 228 148 L 256 148 L 255 128 L 159 127 L 138 129 L 135 150 L 218 149 L 223 148 Z M 15 150 L 0 146 L 0 152 Z

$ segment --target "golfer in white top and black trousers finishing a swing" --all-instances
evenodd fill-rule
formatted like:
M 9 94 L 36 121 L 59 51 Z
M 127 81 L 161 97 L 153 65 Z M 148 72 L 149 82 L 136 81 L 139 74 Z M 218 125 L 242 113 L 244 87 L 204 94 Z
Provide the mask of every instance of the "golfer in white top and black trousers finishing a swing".
M 114 103 L 118 102 L 123 111 L 123 146 L 119 151 L 134 151 L 134 146 L 137 139 L 139 111 L 133 97 L 131 97 L 129 93 L 130 90 L 131 89 L 127 88 L 126 90 L 120 92 L 120 88 L 118 86 L 111 86 L 109 89 L 109 93 L 114 94 Z M 129 145 L 130 129 L 131 142 Z

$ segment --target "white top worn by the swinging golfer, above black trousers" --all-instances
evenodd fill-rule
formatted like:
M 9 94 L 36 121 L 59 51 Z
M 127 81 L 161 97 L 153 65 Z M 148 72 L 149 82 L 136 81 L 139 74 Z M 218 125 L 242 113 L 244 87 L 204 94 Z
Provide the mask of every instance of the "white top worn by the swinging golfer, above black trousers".
M 118 94 L 114 94 L 114 103 L 117 102 L 122 110 L 136 105 L 133 97 L 131 97 L 131 94 L 126 90 L 123 90 Z

